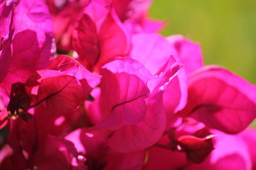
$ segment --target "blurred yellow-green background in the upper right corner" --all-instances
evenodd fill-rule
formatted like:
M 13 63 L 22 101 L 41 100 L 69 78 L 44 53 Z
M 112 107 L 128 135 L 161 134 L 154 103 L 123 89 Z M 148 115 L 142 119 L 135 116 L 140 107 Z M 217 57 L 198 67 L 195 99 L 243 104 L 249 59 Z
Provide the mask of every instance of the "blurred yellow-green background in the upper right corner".
M 205 64 L 227 67 L 256 83 L 255 0 L 155 0 L 150 17 L 164 20 L 164 36 L 201 44 Z

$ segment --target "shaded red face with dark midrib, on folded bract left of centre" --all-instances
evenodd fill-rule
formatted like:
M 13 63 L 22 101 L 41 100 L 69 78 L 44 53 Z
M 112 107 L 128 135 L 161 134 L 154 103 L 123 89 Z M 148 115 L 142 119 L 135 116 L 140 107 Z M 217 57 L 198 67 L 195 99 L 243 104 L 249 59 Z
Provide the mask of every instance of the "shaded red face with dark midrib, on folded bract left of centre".
M 76 110 L 86 97 L 74 76 L 62 75 L 43 79 L 36 101 L 44 100 L 49 110 L 64 114 Z

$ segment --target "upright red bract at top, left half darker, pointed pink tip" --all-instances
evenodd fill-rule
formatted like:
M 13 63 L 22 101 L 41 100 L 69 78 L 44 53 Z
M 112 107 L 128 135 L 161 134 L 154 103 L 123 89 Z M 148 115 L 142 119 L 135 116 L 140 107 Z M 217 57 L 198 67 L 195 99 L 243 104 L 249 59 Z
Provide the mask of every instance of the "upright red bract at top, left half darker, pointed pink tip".
M 93 15 L 97 13 L 97 15 Z M 129 50 L 129 36 L 115 11 L 92 1 L 85 9 L 73 35 L 74 50 L 88 69 L 99 67 Z

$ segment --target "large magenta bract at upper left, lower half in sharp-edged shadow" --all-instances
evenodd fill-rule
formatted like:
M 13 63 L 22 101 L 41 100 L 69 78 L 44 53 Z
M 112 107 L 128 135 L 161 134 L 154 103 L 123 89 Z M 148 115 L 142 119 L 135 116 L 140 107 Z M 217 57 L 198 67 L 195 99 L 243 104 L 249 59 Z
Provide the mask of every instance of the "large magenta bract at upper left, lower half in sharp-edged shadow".
M 46 68 L 55 52 L 55 45 L 52 43 L 51 17 L 43 1 L 33 4 L 28 1 L 10 1 L 6 4 L 9 6 L 4 10 L 9 9 L 12 16 L 2 15 L 1 20 L 6 23 L 3 27 L 12 28 L 10 34 L 14 32 L 10 50 L 8 53 L 2 52 L 2 55 L 5 53 L 5 58 L 8 56 L 10 62 L 2 85 L 10 89 L 12 83 L 24 83 L 31 73 Z M 9 37 L 11 38 L 10 35 Z M 8 62 L 6 64 L 8 66 Z

